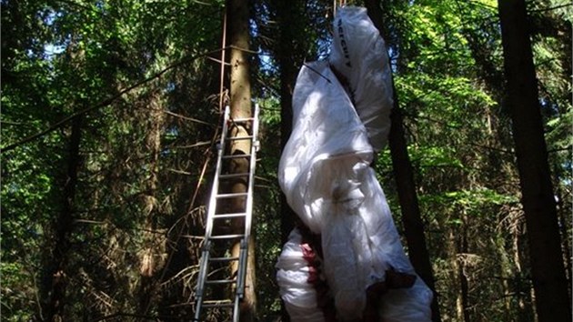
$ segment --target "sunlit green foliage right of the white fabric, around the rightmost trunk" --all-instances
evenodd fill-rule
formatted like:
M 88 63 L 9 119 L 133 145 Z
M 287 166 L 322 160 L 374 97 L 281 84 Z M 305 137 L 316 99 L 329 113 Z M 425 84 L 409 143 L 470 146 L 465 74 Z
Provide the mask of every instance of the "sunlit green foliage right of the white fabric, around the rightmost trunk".
M 527 296 L 513 297 L 508 303 L 491 301 L 514 289 L 521 294 L 524 285 L 527 288 L 526 283 L 505 288 L 499 285 L 490 277 L 498 269 L 508 280 L 520 280 L 528 274 L 521 262 L 511 259 L 524 257 L 527 249 L 511 247 L 524 238 L 524 230 L 517 215 L 518 179 L 502 100 L 497 2 L 389 3 L 383 2 L 390 30 L 387 41 L 394 57 L 397 97 L 406 116 L 408 153 L 427 225 L 442 318 L 463 318 L 455 309 L 459 305 L 456 298 L 462 296 L 469 297 L 471 318 L 506 320 L 503 312 L 508 309 L 520 317 L 528 316 L 527 309 L 519 308 L 530 301 Z M 546 27 L 558 26 L 548 18 L 556 12 L 539 11 L 538 19 Z M 570 153 L 570 126 L 565 126 L 570 120 L 564 118 L 570 114 L 570 103 L 555 103 L 557 97 L 566 97 L 555 94 L 555 90 L 563 88 L 561 82 L 568 79 L 559 74 L 561 64 L 568 61 L 560 55 L 568 51 L 557 44 L 570 41 L 554 42 L 546 35 L 539 36 L 534 45 L 538 48 L 541 104 L 548 120 L 548 145 L 555 151 L 551 157 L 560 160 L 555 163 L 558 173 L 570 182 L 570 176 L 560 172 L 561 167 L 570 168 L 570 162 L 562 158 Z M 378 157 L 377 172 L 383 175 L 380 179 L 390 201 L 395 198 L 395 187 L 387 178 L 391 171 L 384 152 Z M 399 220 L 396 210 L 395 219 Z M 465 277 L 459 275 L 459 267 Z M 465 295 L 460 290 L 461 278 L 469 281 Z

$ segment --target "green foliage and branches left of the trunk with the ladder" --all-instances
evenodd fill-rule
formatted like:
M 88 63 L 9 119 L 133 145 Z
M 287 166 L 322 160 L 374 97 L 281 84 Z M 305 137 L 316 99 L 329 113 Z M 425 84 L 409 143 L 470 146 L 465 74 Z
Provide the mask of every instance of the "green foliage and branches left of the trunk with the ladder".
M 116 95 L 118 88 L 136 84 L 184 56 L 216 48 L 221 22 L 210 18 L 220 15 L 221 5 L 3 2 L 3 146 L 95 106 Z M 208 10 L 197 11 L 197 6 Z M 5 25 L 12 29 L 10 36 L 4 36 Z M 75 224 L 66 235 L 71 243 L 66 255 L 67 297 L 74 299 L 66 301 L 66 320 L 138 310 L 133 298 L 140 278 L 142 230 L 149 220 L 142 215 L 146 211 L 142 200 L 156 200 L 151 207 L 156 209 L 157 232 L 172 228 L 188 234 L 189 223 L 195 219 L 187 209 L 200 205 L 204 190 L 200 189 L 196 204 L 189 205 L 200 173 L 197 164 L 203 160 L 196 157 L 197 148 L 178 146 L 210 140 L 214 126 L 196 126 L 185 118 L 166 119 L 158 127 L 170 129 L 165 132 L 169 146 L 160 155 L 160 166 L 153 156 L 161 151 L 154 152 L 149 133 L 157 128 L 157 116 L 165 118 L 165 112 L 155 112 L 158 108 L 216 124 L 217 117 L 205 99 L 211 90 L 206 81 L 211 69 L 204 62 L 180 67 L 162 81 L 137 88 L 83 116 Z M 164 92 L 164 88 L 169 90 Z M 190 111 L 189 106 L 197 108 Z M 8 320 L 42 314 L 39 308 L 46 300 L 42 292 L 49 286 L 43 285 L 40 273 L 49 264 L 56 242 L 58 227 L 54 223 L 62 211 L 69 136 L 70 127 L 64 125 L 2 155 L 0 265 L 6 295 L 3 317 Z M 171 169 L 192 173 L 191 180 Z M 149 178 L 157 173 L 161 174 L 158 182 L 165 186 L 150 191 Z M 172 227 L 175 223 L 179 226 Z M 173 246 L 178 243 L 186 249 L 185 240 L 172 237 Z M 192 264 L 190 257 L 178 261 L 170 268 L 175 271 L 163 277 L 176 275 L 177 265 Z M 161 277 L 160 269 L 166 268 L 157 267 L 156 278 Z M 19 273 L 12 274 L 15 271 Z M 181 288 L 181 281 L 176 282 L 170 285 Z M 166 288 L 165 292 L 174 293 L 175 289 Z M 156 297 L 153 293 L 149 296 Z M 154 303 L 150 314 L 158 314 L 159 303 Z

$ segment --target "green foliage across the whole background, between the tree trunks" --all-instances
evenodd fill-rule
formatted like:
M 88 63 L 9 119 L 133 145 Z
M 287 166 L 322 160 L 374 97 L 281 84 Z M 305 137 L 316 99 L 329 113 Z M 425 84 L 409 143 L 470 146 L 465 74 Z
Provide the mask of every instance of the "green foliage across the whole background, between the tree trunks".
M 443 320 L 462 319 L 457 298 L 463 277 L 472 319 L 531 317 L 497 1 L 380 3 Z M 549 160 L 560 209 L 569 209 L 571 6 L 565 0 L 529 4 Z M 115 314 L 124 314 L 117 317 L 121 320 L 137 320 L 129 316 L 134 314 L 176 320 L 192 314 L 189 299 L 220 119 L 220 65 L 200 54 L 220 46 L 224 5 L 222 0 L 2 2 L 2 146 L 199 56 L 82 115 L 74 224 L 65 235 L 70 246 L 65 320 Z M 255 229 L 263 319 L 280 311 L 274 276 L 282 247 L 276 168 L 284 139 L 280 81 L 289 71 L 279 65 L 290 64 L 296 75 L 304 61 L 327 55 L 330 5 L 256 1 L 251 8 L 251 47 L 261 54 L 249 62 L 261 106 Z M 284 10 L 299 23 L 285 27 L 279 15 Z M 285 93 L 292 86 L 285 84 Z M 1 308 L 7 321 L 43 314 L 49 288 L 43 271 L 57 243 L 56 219 L 64 211 L 71 134 L 68 122 L 0 156 Z M 388 149 L 375 166 L 401 226 Z M 562 212 L 570 232 L 570 214 Z M 155 268 L 146 284 L 140 268 L 148 249 Z

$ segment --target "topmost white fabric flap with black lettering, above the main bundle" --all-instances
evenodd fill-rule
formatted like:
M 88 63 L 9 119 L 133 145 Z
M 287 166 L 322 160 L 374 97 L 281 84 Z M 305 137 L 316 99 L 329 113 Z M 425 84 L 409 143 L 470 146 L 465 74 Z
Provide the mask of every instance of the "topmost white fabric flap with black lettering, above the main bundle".
M 328 62 L 347 78 L 358 116 L 367 127 L 375 151 L 387 144 L 393 105 L 392 72 L 386 45 L 367 9 L 337 10 Z

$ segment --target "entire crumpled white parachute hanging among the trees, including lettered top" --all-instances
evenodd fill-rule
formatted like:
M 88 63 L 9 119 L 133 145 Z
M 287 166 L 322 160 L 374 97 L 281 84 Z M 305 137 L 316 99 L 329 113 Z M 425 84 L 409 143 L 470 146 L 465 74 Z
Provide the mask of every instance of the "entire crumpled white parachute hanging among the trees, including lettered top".
M 347 79 L 348 92 L 331 66 Z M 388 269 L 416 274 L 369 166 L 387 141 L 390 76 L 384 42 L 366 9 L 344 7 L 337 12 L 328 62 L 304 65 L 293 94 L 293 131 L 278 180 L 289 206 L 321 235 L 322 269 L 340 321 L 362 317 L 367 287 L 384 281 Z M 298 239 L 291 235 L 279 257 L 277 282 L 291 317 L 320 320 L 319 308 L 307 300 L 312 289 L 300 284 L 307 269 L 304 259 L 292 264 Z M 380 299 L 380 317 L 429 321 L 431 299 L 432 292 L 417 277 L 413 287 L 387 291 Z M 313 307 L 317 314 L 308 313 Z

